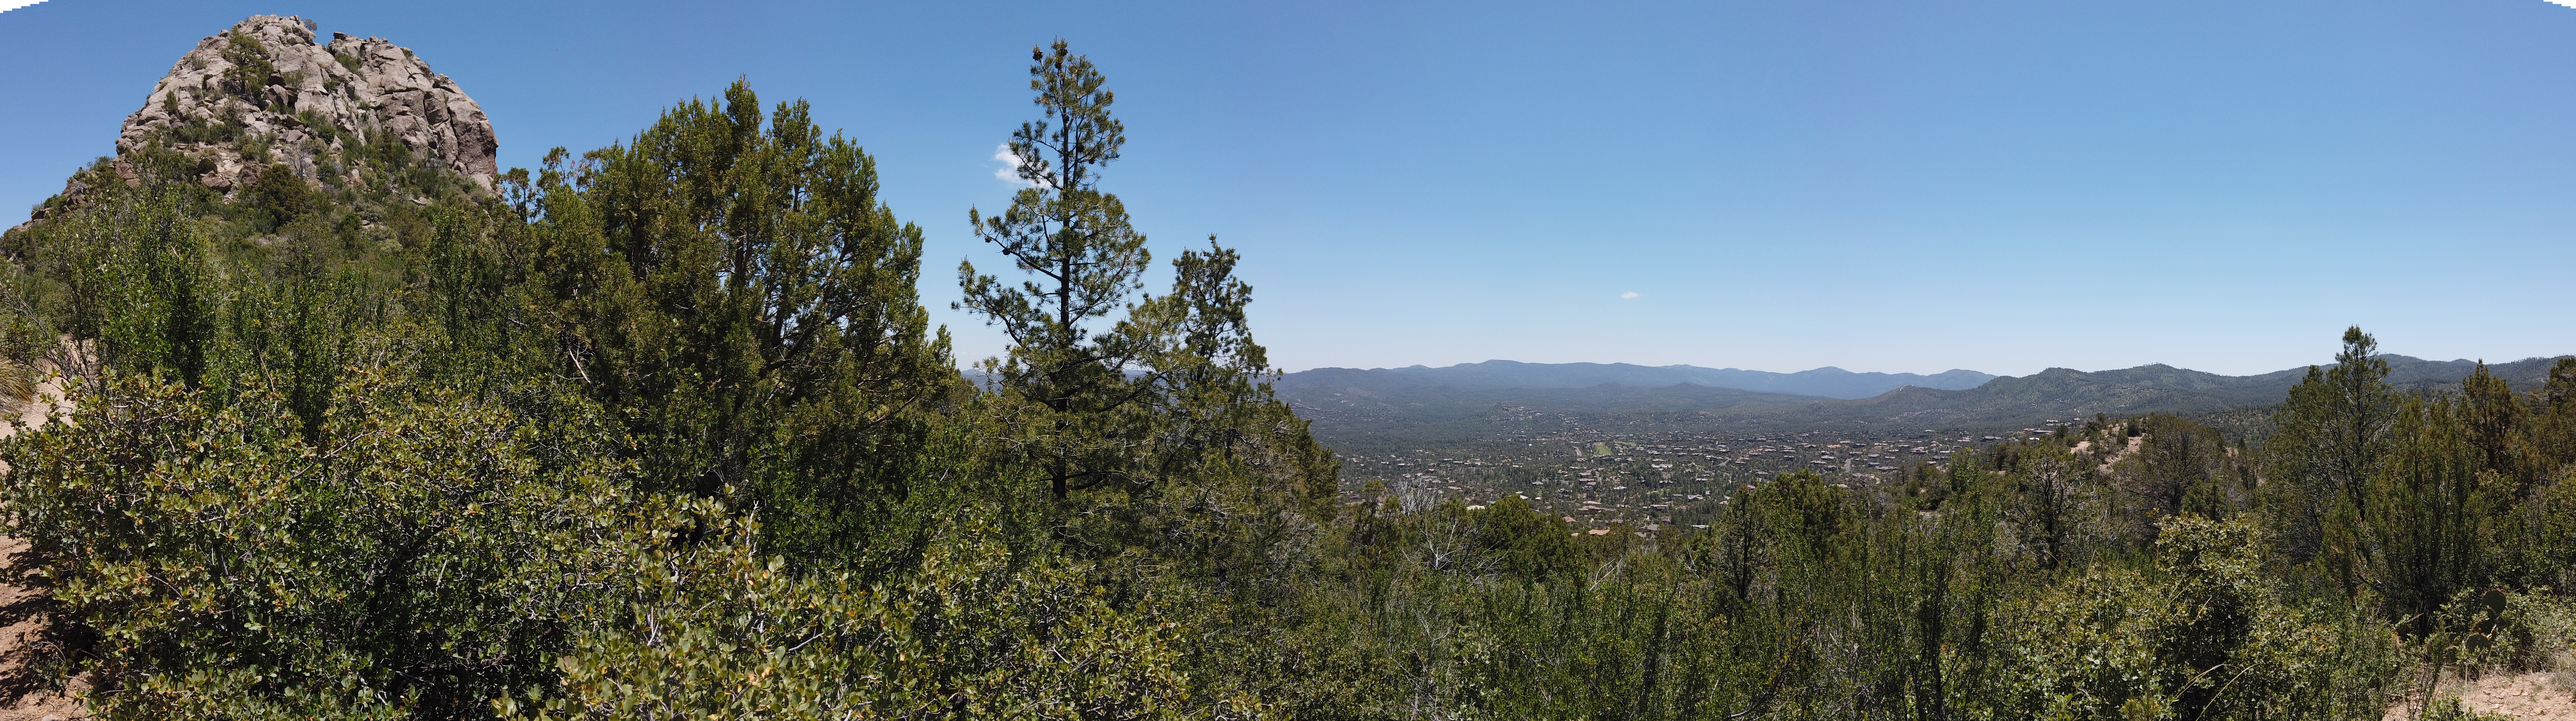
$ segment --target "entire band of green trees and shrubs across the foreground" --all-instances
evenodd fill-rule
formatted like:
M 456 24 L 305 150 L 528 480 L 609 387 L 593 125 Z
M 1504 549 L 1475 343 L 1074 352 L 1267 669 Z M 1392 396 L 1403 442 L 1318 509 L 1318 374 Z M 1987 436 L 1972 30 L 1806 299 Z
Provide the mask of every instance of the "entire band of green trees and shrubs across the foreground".
M 981 384 L 873 160 L 739 82 L 497 193 L 93 173 L 0 239 L 0 350 L 77 402 L 0 443 L 54 677 L 106 718 L 2378 718 L 2566 641 L 2576 363 L 2406 394 L 2360 330 L 2262 445 L 2102 417 L 1700 533 L 1345 502 L 1236 255 L 1162 276 L 1100 188 L 1100 72 L 1059 41 L 1030 90 L 1030 188 L 971 214 L 1015 268 L 958 268 Z

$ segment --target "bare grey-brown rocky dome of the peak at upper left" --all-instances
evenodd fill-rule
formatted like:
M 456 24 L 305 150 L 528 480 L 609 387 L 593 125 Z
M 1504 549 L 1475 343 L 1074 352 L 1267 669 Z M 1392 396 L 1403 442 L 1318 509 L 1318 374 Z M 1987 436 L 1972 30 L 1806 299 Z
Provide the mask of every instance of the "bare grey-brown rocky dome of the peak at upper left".
M 500 139 L 456 80 L 384 39 L 332 33 L 319 44 L 314 31 L 304 18 L 252 15 L 198 41 L 152 85 L 144 108 L 126 116 L 118 157 L 162 142 L 201 160 L 198 183 L 232 191 L 265 162 L 309 180 L 325 173 L 355 180 L 350 144 L 392 136 L 415 157 L 492 188 Z M 240 139 L 268 157 L 245 160 Z M 124 165 L 118 175 L 134 178 Z

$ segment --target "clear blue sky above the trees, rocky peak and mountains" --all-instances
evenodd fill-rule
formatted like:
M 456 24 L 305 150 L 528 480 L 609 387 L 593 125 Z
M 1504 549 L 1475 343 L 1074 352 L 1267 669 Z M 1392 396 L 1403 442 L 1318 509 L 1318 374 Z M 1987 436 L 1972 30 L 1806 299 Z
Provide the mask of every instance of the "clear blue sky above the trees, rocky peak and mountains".
M 878 157 L 922 301 L 1028 46 L 1118 90 L 1159 258 L 1244 252 L 1278 366 L 1762 371 L 2576 353 L 2576 8 L 2450 3 L 0 5 L 0 224 L 252 13 L 456 77 L 502 167 L 750 77 Z M 1007 270 L 1007 268 L 1005 268 Z M 1162 270 L 1157 270 L 1159 276 Z M 1157 281 L 1159 283 L 1159 281 Z

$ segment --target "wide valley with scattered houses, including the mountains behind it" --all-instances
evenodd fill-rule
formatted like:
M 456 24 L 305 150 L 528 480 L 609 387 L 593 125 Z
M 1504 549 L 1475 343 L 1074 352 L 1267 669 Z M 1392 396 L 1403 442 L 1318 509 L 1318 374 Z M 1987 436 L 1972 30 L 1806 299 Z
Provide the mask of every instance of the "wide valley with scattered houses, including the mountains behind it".
M 2476 368 L 2476 360 L 2383 358 L 2393 368 L 2391 384 L 2414 389 L 2458 386 Z M 2545 384 L 2550 363 L 2555 358 L 2530 358 L 2491 371 L 2514 389 L 2532 389 Z M 1285 373 L 1275 386 L 1337 451 L 1345 500 L 1370 497 L 1373 487 L 1412 507 L 1520 497 L 1579 530 L 1656 533 L 1705 528 L 1734 492 L 1777 474 L 1816 471 L 1842 487 L 1880 487 L 1978 445 L 2050 438 L 2087 422 L 2102 427 L 2130 415 L 2182 415 L 2231 438 L 2259 438 L 2269 407 L 2306 368 L 2262 376 L 2169 366 L 2050 368 L 2025 379 L 1950 371 L 1942 376 L 1984 381 L 1965 389 L 1896 386 L 1862 399 L 1700 384 L 1571 386 L 1680 373 L 1489 360 L 1316 368 Z

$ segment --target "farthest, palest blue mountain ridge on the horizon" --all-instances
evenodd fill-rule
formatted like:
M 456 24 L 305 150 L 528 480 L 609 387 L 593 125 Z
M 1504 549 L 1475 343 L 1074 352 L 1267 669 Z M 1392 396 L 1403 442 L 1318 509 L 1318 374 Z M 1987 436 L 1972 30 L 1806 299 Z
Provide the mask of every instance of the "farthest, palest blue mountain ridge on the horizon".
M 1600 384 L 1620 384 L 1620 386 L 1656 389 L 1656 386 L 1692 384 L 1703 389 L 1865 399 L 1886 394 L 1899 386 L 1976 389 L 1978 384 L 1986 384 L 1991 379 L 1994 373 L 1958 371 L 1958 368 L 1932 376 L 1919 376 L 1919 373 L 1852 373 L 1832 366 L 1798 373 L 1770 373 L 1770 371 L 1700 368 L 1700 366 L 1484 360 L 1484 363 L 1458 363 L 1448 368 L 1427 368 L 1427 366 L 1365 368 L 1365 371 L 1314 368 L 1314 371 L 1288 373 L 1285 379 L 1280 379 L 1280 386 L 1285 389 L 1296 384 L 1342 384 L 1342 386 L 1453 386 L 1453 389 L 1589 389 Z

